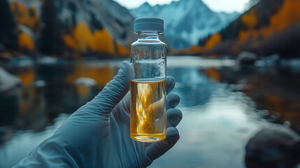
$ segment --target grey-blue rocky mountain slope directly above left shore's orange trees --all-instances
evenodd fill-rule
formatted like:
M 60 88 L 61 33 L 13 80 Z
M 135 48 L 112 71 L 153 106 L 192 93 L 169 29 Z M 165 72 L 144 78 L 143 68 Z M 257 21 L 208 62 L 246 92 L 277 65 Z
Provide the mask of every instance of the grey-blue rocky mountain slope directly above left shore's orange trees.
M 90 29 L 105 27 L 113 38 L 124 46 L 134 41 L 133 18 L 127 8 L 112 0 L 55 0 L 59 20 L 72 25 L 84 20 Z

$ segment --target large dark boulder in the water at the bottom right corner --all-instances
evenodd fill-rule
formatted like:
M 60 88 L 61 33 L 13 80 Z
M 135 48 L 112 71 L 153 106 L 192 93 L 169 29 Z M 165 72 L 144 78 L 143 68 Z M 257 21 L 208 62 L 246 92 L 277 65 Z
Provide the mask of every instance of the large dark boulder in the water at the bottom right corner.
M 300 162 L 300 136 L 289 127 L 263 128 L 246 146 L 248 168 L 295 167 Z

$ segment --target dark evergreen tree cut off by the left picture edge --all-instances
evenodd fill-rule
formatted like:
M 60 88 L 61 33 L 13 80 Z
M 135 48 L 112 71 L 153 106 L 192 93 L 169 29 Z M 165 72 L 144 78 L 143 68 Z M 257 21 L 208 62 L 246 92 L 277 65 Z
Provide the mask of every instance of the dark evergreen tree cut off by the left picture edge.
M 0 0 L 0 16 L 0 44 L 5 45 L 8 49 L 16 49 L 16 23 L 7 0 Z

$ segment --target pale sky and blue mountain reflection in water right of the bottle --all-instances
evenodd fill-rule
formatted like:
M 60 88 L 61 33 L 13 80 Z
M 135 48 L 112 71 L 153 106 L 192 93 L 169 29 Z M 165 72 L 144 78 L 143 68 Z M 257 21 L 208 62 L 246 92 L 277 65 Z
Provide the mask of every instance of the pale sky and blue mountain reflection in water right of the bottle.
M 169 69 L 180 83 L 174 89 L 182 98 L 180 140 L 150 167 L 245 167 L 245 142 L 266 124 L 257 122 L 251 100 L 208 77 L 217 69 L 180 71 Z

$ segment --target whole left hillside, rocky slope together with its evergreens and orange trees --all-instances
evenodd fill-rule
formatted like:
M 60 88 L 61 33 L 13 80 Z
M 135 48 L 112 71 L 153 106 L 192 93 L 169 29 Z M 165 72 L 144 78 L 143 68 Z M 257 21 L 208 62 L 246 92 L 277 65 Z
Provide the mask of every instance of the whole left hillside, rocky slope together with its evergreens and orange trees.
M 113 0 L 10 0 L 9 7 L 22 52 L 129 55 L 136 38 L 134 18 Z

